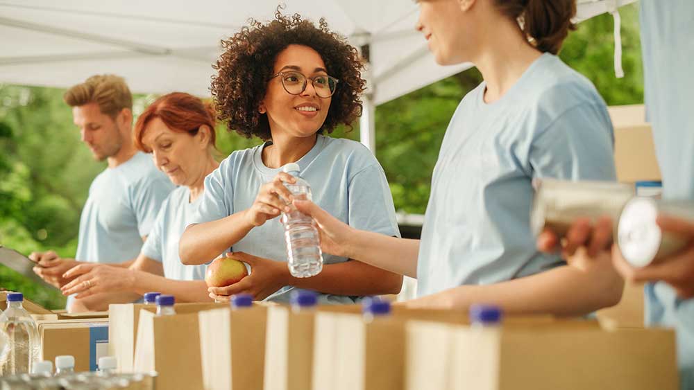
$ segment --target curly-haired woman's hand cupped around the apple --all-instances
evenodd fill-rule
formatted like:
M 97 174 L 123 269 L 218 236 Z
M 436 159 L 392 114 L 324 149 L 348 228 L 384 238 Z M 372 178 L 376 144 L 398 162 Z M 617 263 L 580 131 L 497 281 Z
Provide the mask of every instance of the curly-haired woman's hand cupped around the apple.
M 232 285 L 210 287 L 210 298 L 215 301 L 229 301 L 235 294 L 251 294 L 253 300 L 262 301 L 287 285 L 289 269 L 283 261 L 260 258 L 244 252 L 228 253 L 226 256 L 250 265 L 251 274 Z

